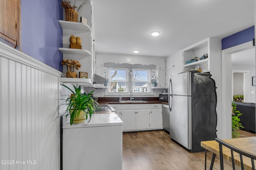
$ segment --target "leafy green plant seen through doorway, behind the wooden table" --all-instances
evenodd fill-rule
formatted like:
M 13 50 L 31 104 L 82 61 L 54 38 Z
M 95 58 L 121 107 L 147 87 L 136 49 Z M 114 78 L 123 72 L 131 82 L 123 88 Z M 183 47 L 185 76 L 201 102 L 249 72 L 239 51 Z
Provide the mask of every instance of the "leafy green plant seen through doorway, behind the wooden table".
M 244 127 L 240 123 L 239 116 L 242 115 L 240 111 L 236 110 L 236 104 L 232 101 L 232 138 L 237 138 L 240 136 L 238 129 L 243 129 Z

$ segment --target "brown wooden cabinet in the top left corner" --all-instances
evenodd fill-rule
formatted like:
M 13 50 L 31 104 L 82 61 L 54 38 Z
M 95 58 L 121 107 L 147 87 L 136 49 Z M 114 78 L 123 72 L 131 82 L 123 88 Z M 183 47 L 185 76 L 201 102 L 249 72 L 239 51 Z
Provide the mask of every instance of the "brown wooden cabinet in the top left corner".
M 0 0 L 0 41 L 20 49 L 20 0 Z

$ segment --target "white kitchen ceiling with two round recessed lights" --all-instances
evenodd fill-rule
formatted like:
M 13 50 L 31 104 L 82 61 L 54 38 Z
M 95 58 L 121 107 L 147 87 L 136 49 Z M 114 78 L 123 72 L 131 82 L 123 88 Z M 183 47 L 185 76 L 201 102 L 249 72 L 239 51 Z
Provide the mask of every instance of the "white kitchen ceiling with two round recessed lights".
M 96 52 L 166 57 L 253 26 L 254 0 L 93 0 L 93 13 Z

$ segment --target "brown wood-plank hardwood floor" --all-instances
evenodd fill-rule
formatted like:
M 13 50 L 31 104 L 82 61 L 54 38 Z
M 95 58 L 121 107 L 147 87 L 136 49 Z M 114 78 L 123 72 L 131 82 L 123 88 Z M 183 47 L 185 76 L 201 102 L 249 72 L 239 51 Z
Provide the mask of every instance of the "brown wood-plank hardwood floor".
M 240 136 L 255 134 L 241 131 Z M 212 153 L 207 152 L 207 169 L 211 157 Z M 218 156 L 213 169 L 220 169 Z M 224 160 L 224 169 L 232 170 L 232 163 Z M 192 153 L 164 131 L 123 133 L 123 170 L 204 170 L 204 151 Z

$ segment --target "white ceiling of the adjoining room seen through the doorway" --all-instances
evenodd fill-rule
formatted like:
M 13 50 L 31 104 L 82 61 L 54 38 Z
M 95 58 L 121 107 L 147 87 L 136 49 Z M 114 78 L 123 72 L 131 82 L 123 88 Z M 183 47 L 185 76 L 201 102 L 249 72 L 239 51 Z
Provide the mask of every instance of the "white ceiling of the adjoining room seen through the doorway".
M 255 49 L 248 49 L 231 55 L 232 64 L 255 66 Z

